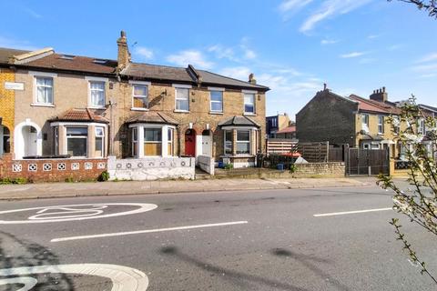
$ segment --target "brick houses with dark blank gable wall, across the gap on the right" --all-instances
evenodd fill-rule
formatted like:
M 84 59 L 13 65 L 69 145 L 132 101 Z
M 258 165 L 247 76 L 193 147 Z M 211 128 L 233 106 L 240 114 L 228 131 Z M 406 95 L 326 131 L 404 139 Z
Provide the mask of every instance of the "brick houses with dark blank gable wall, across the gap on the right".
M 437 113 L 436 108 L 421 105 L 426 115 Z M 340 96 L 329 89 L 318 92 L 296 117 L 300 142 L 328 141 L 330 145 L 362 149 L 391 149 L 391 157 L 401 158 L 405 148 L 398 133 L 406 125 L 393 128 L 388 118 L 399 118 L 400 103 L 389 101 L 385 87 L 374 90 L 369 99 L 358 95 Z M 419 128 L 426 135 L 424 126 Z M 424 139 L 426 142 L 426 138 Z M 430 149 L 432 148 L 430 142 Z

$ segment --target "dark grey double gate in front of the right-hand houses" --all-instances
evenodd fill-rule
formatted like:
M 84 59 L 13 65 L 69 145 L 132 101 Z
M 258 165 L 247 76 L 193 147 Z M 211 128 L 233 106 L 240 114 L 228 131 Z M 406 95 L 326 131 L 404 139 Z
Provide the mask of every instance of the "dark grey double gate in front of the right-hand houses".
M 389 175 L 389 149 L 349 148 L 346 152 L 346 172 L 348 176 Z

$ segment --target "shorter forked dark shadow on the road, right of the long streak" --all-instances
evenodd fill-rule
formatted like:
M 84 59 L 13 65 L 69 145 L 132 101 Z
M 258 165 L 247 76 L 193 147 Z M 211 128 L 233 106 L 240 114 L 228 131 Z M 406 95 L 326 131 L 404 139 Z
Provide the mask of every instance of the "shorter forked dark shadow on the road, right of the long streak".
M 330 260 L 322 259 L 316 256 L 308 256 L 303 254 L 298 254 L 290 249 L 285 248 L 274 248 L 270 251 L 270 254 L 273 256 L 283 256 L 283 257 L 290 257 L 295 261 L 298 261 L 302 266 L 305 266 L 308 268 L 311 272 L 313 272 L 315 275 L 320 276 L 323 280 L 328 279 L 328 282 L 335 286 L 337 290 L 343 290 L 343 291 L 349 291 L 351 290 L 348 286 L 345 286 L 340 283 L 339 280 L 331 277 L 327 273 L 323 272 L 320 267 L 317 266 L 317 264 L 323 263 L 323 264 L 330 264 Z

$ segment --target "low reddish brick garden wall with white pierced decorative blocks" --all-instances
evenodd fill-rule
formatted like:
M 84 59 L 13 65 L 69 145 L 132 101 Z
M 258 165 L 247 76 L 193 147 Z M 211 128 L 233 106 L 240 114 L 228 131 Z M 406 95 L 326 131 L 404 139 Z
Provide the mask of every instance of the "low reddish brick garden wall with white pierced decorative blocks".
M 0 158 L 0 178 L 24 178 L 28 182 L 76 182 L 96 180 L 107 170 L 107 159 L 50 158 L 13 160 Z

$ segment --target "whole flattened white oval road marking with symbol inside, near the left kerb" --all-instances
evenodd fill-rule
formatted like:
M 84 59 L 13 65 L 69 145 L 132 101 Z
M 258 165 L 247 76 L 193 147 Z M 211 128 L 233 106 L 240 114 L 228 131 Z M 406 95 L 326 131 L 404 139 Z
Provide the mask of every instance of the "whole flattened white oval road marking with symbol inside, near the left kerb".
M 75 209 L 73 207 L 84 207 L 89 206 L 90 208 Z M 134 206 L 138 207 L 134 210 L 117 212 L 112 214 L 103 214 L 102 209 L 107 208 L 107 206 Z M 97 218 L 107 218 L 115 216 L 129 216 L 138 213 L 147 212 L 157 208 L 154 204 L 145 203 L 96 203 L 96 204 L 79 204 L 71 206 L 43 206 L 43 207 L 33 207 L 24 209 L 13 209 L 0 211 L 0 217 L 5 214 L 26 212 L 36 210 L 35 216 L 29 216 L 28 220 L 0 220 L 0 225 L 17 225 L 17 224 L 42 224 L 49 222 L 63 222 L 63 221 L 76 221 L 85 219 L 97 219 Z M 47 212 L 47 211 L 56 212 Z M 55 216 L 56 215 L 56 216 Z

